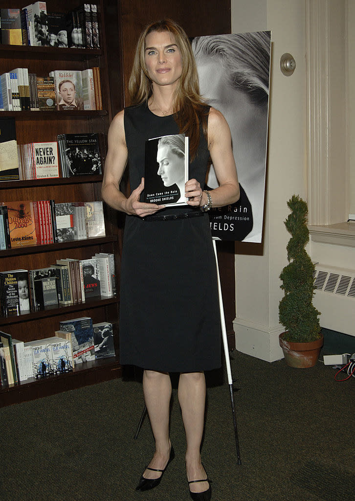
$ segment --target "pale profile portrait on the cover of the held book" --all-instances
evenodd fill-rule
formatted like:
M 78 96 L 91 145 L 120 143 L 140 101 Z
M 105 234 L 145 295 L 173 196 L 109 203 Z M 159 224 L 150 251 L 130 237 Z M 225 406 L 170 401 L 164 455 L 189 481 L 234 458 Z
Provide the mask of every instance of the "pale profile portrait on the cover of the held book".
M 176 203 L 185 201 L 185 136 L 175 134 L 159 139 L 157 150 L 158 175 L 164 186 L 176 184 L 179 198 Z

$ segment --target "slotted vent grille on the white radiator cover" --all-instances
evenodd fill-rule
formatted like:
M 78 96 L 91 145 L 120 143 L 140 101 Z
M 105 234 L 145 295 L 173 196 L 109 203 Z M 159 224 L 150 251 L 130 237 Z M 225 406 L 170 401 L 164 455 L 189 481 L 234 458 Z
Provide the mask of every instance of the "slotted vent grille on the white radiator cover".
M 355 271 L 316 265 L 313 279 L 317 290 L 355 299 Z

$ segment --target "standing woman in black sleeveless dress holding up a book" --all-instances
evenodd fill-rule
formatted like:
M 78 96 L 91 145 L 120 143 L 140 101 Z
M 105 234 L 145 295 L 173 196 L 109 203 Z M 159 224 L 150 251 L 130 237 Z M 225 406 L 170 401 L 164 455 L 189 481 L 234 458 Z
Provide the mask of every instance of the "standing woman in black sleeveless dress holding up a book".
M 190 495 L 205 501 L 211 486 L 200 456 L 203 371 L 221 365 L 216 267 L 205 211 L 239 196 L 230 131 L 221 113 L 201 101 L 190 42 L 170 20 L 150 24 L 142 32 L 129 89 L 132 106 L 118 113 L 109 129 L 102 195 L 128 214 L 121 265 L 120 360 L 144 369 L 143 392 L 155 438 L 155 453 L 137 490 L 158 485 L 174 457 L 169 372 L 179 372 Z M 187 205 L 165 208 L 140 202 L 145 141 L 171 134 L 189 136 Z M 219 186 L 206 192 L 202 187 L 209 156 Z M 127 160 L 132 189 L 128 198 L 120 191 Z

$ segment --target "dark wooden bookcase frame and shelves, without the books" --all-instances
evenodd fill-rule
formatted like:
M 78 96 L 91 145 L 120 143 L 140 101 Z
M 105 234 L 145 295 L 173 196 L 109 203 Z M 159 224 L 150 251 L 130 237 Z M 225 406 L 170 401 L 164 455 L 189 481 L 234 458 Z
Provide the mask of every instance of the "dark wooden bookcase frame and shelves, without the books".
M 20 111 L 0 112 L 0 116 L 16 119 L 19 144 L 37 141 L 56 141 L 57 134 L 76 132 L 103 132 L 107 135 L 111 122 L 111 99 L 108 82 L 105 16 L 103 0 L 96 2 L 100 26 L 100 49 L 60 49 L 55 47 L 26 47 L 0 45 L 0 74 L 14 68 L 27 67 L 30 73 L 48 76 L 52 70 L 84 70 L 100 67 L 102 111 Z M 22 8 L 26 2 L 0 0 L 0 8 Z M 79 0 L 49 0 L 47 12 L 69 12 L 80 5 Z M 102 151 L 104 160 L 106 151 Z M 104 161 L 103 161 L 104 168 Z M 0 182 L 0 201 L 54 199 L 67 201 L 101 200 L 102 176 L 41 179 Z M 102 238 L 76 240 L 50 245 L 36 245 L 0 251 L 0 270 L 27 270 L 50 266 L 57 259 L 88 259 L 96 252 L 115 254 L 116 276 L 119 279 L 121 232 L 117 213 L 105 207 L 106 235 Z M 117 280 L 117 282 L 119 282 Z M 0 330 L 16 339 L 32 341 L 54 335 L 61 320 L 92 317 L 93 322 L 109 321 L 115 328 L 116 357 L 78 364 L 72 373 L 37 381 L 28 379 L 16 385 L 0 388 L 0 407 L 31 400 L 61 391 L 119 377 L 118 361 L 118 308 L 119 297 L 95 300 L 83 305 L 30 313 L 12 318 L 0 317 Z

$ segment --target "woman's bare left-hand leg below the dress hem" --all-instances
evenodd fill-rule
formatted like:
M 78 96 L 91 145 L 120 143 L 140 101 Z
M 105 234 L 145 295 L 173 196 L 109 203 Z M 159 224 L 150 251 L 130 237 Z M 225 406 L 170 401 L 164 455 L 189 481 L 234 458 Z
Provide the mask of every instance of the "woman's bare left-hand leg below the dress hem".
M 148 466 L 164 469 L 169 460 L 171 448 L 169 438 L 171 380 L 169 374 L 145 370 L 143 393 L 155 438 L 155 453 Z M 146 469 L 143 476 L 144 478 L 159 478 L 161 472 Z

